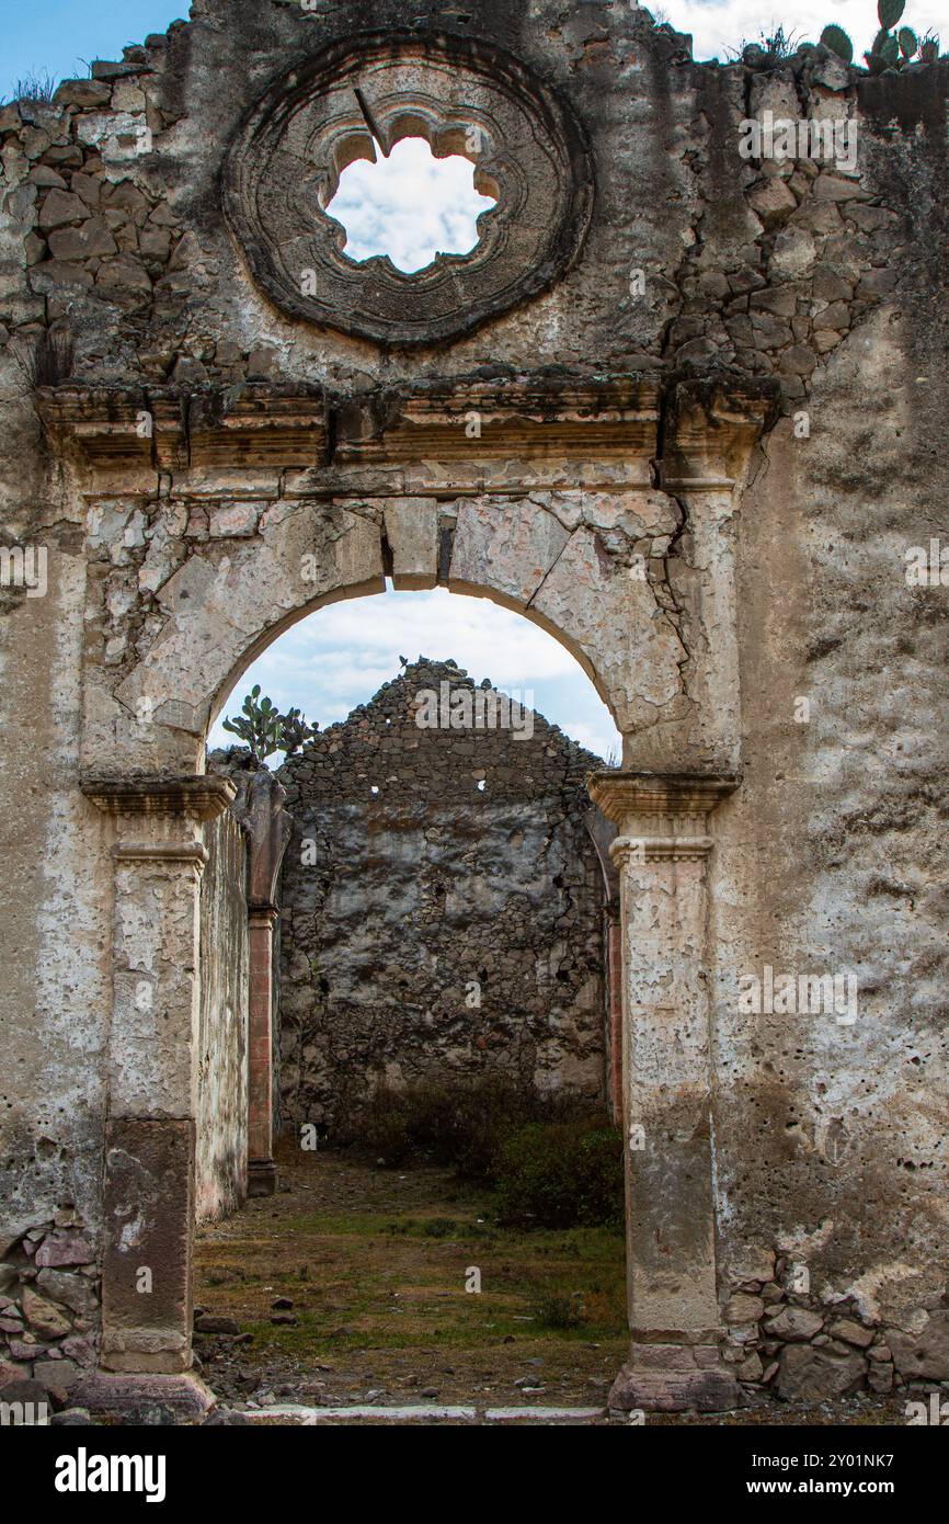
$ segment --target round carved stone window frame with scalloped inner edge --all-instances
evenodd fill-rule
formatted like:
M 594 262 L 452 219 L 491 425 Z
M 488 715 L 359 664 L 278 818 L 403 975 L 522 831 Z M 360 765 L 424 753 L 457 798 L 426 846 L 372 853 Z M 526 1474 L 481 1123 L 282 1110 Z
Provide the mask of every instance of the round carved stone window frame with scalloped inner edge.
M 497 197 L 468 255 L 414 274 L 355 262 L 324 207 L 356 158 L 423 137 Z M 414 32 L 337 43 L 276 79 L 224 166 L 227 221 L 282 311 L 379 344 L 437 344 L 536 296 L 576 259 L 593 212 L 586 137 L 561 98 L 494 44 Z

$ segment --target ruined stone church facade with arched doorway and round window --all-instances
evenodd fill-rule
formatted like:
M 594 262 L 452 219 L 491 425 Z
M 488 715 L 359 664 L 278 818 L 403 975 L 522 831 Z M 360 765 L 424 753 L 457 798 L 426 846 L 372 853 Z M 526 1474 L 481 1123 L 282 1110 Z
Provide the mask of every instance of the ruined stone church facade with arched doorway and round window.
M 198 0 L 0 108 L 5 1378 L 207 1401 L 201 1023 L 247 1012 L 213 1148 L 268 1189 L 285 834 L 242 802 L 215 994 L 206 738 L 385 576 L 538 622 L 623 735 L 612 1402 L 949 1378 L 946 93 L 618 0 Z M 768 113 L 856 160 L 743 157 Z M 498 190 L 416 276 L 324 210 L 405 136 Z

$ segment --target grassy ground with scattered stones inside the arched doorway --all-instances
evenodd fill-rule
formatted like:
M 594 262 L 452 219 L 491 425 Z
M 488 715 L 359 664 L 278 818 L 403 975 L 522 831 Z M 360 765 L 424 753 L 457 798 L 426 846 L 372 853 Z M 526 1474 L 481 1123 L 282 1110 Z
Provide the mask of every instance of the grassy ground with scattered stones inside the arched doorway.
M 626 1353 L 623 1277 L 620 1234 L 500 1228 L 449 1170 L 285 1149 L 277 1195 L 198 1236 L 195 1300 L 245 1343 L 197 1344 L 219 1396 L 596 1407 Z

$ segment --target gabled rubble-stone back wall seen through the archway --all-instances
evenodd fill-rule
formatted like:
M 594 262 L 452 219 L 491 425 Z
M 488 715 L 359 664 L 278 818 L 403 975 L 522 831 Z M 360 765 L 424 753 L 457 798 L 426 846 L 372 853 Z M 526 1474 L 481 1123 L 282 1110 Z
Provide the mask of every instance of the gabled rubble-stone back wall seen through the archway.
M 294 1122 L 331 1125 L 381 1082 L 494 1074 L 605 1094 L 583 783 L 600 764 L 541 715 L 521 739 L 416 722 L 420 693 L 475 692 L 419 658 L 279 773 L 294 817 L 280 980 Z

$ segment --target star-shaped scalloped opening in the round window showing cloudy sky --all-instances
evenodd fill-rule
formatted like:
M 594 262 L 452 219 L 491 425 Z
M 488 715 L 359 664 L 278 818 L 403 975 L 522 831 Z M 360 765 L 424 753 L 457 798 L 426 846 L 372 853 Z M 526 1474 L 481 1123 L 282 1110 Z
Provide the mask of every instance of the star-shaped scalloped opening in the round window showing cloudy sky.
M 471 253 L 478 216 L 498 200 L 484 192 L 497 186 L 469 158 L 436 157 L 423 137 L 404 137 L 387 158 L 347 165 L 326 210 L 346 229 L 349 259 L 388 255 L 396 270 L 414 274 L 437 255 Z

